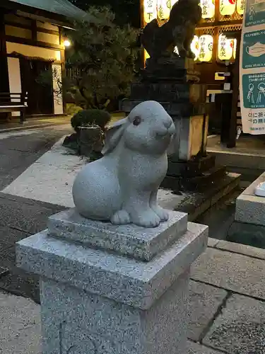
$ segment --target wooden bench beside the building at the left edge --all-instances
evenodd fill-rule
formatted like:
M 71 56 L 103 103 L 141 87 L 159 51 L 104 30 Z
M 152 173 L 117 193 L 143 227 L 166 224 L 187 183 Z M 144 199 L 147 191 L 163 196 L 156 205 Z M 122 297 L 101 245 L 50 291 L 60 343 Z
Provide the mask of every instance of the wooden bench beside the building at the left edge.
M 20 112 L 20 123 L 25 122 L 27 93 L 0 93 L 0 113 Z

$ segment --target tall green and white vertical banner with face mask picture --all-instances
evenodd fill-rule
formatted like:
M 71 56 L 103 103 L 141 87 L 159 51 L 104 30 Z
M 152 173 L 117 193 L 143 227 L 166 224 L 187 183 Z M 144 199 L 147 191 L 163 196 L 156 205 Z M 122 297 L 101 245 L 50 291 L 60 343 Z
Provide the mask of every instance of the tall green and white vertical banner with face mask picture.
M 246 0 L 240 48 L 243 132 L 265 134 L 265 0 Z

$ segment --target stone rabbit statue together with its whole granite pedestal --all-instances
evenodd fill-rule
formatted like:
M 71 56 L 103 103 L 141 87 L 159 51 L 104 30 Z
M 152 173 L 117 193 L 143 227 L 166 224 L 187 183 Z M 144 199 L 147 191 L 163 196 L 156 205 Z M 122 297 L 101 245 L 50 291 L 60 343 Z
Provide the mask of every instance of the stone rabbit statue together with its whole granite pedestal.
M 208 228 L 157 205 L 173 132 L 165 110 L 143 103 L 115 127 L 76 178 L 77 207 L 17 244 L 18 266 L 40 275 L 43 354 L 186 353 L 189 268 Z

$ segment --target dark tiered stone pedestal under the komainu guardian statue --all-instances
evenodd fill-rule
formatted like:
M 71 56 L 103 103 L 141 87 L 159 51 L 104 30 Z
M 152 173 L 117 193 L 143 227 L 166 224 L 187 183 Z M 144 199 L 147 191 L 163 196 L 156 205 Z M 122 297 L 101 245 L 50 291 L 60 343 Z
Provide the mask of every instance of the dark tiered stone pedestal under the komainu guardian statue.
M 192 178 L 197 185 L 196 177 L 215 166 L 215 156 L 208 156 L 206 152 L 208 113 L 212 105 L 206 103 L 206 93 L 206 85 L 199 84 L 193 59 L 151 58 L 141 71 L 141 79 L 131 84 L 130 99 L 120 103 L 120 109 L 129 113 L 142 101 L 158 101 L 175 122 L 176 133 L 167 149 L 164 188 L 176 189 L 177 180 L 183 184 L 184 180 Z

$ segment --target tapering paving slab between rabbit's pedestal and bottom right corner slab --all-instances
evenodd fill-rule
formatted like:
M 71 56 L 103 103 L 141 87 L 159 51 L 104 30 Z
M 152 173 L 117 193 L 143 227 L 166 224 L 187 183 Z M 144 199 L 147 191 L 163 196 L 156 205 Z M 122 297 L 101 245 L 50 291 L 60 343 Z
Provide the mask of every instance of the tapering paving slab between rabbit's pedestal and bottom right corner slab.
M 225 290 L 211 285 L 194 281 L 189 283 L 188 338 L 200 341 L 227 295 Z

